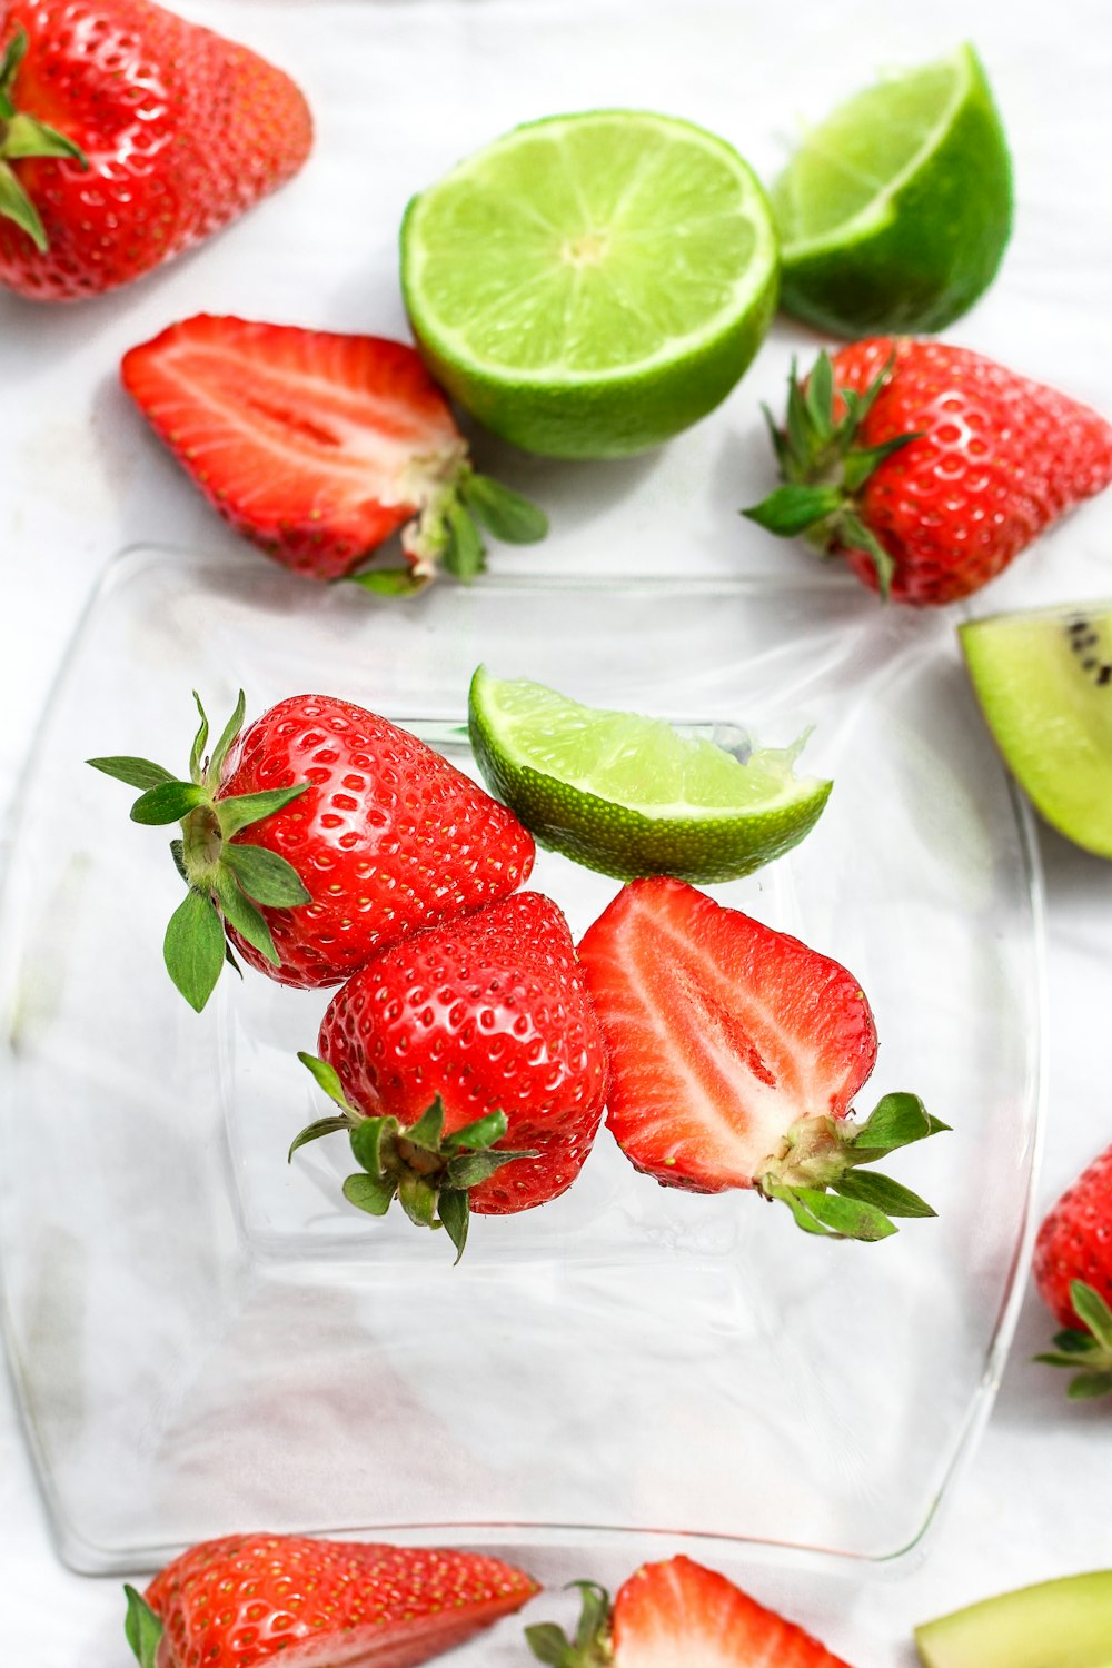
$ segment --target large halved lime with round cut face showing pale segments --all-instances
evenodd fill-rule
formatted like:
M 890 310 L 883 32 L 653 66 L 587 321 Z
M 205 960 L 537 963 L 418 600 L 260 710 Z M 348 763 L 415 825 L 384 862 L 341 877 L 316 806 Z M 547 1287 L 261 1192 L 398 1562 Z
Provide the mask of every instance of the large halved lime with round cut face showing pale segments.
M 415 197 L 402 287 L 433 374 L 552 457 L 659 445 L 725 399 L 777 299 L 745 162 L 674 117 L 594 110 L 513 128 Z

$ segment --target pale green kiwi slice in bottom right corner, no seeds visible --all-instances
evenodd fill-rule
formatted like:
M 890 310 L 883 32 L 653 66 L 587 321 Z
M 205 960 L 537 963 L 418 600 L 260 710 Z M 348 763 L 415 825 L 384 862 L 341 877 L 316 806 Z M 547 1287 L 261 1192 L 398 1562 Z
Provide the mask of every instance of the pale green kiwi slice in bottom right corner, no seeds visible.
M 915 1628 L 925 1668 L 1112 1668 L 1112 1570 L 1040 1581 Z

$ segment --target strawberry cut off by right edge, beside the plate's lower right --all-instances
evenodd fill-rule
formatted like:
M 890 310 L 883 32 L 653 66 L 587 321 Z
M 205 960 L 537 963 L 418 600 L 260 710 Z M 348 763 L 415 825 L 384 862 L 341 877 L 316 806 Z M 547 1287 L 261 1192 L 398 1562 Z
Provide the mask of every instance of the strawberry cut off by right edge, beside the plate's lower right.
M 1047 1214 L 1034 1273 L 1039 1296 L 1064 1328 L 1055 1348 L 1035 1359 L 1077 1374 L 1072 1398 L 1112 1391 L 1112 1148 Z

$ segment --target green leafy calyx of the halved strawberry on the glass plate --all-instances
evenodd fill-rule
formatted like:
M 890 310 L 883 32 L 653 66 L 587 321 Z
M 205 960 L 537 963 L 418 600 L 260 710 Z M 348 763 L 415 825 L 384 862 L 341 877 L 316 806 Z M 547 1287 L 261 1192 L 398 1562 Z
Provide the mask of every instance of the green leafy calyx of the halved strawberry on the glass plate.
M 780 1199 L 799 1228 L 830 1239 L 887 1239 L 894 1216 L 935 1216 L 917 1193 L 875 1171 L 887 1153 L 949 1129 L 917 1094 L 885 1094 L 864 1124 L 800 1118 L 754 1179 L 765 1199 Z

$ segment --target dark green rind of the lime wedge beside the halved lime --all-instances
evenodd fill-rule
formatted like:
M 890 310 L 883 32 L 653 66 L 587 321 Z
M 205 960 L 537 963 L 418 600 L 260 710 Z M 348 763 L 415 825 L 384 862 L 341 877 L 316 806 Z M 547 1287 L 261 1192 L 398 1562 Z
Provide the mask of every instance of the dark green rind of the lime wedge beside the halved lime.
M 955 90 L 935 128 L 842 227 L 814 240 L 795 235 L 790 202 L 800 163 L 772 187 L 785 312 L 844 337 L 932 332 L 967 312 L 995 279 L 1012 230 L 1007 137 L 974 48 L 942 62 L 954 63 Z M 810 142 L 822 143 L 822 132 Z

